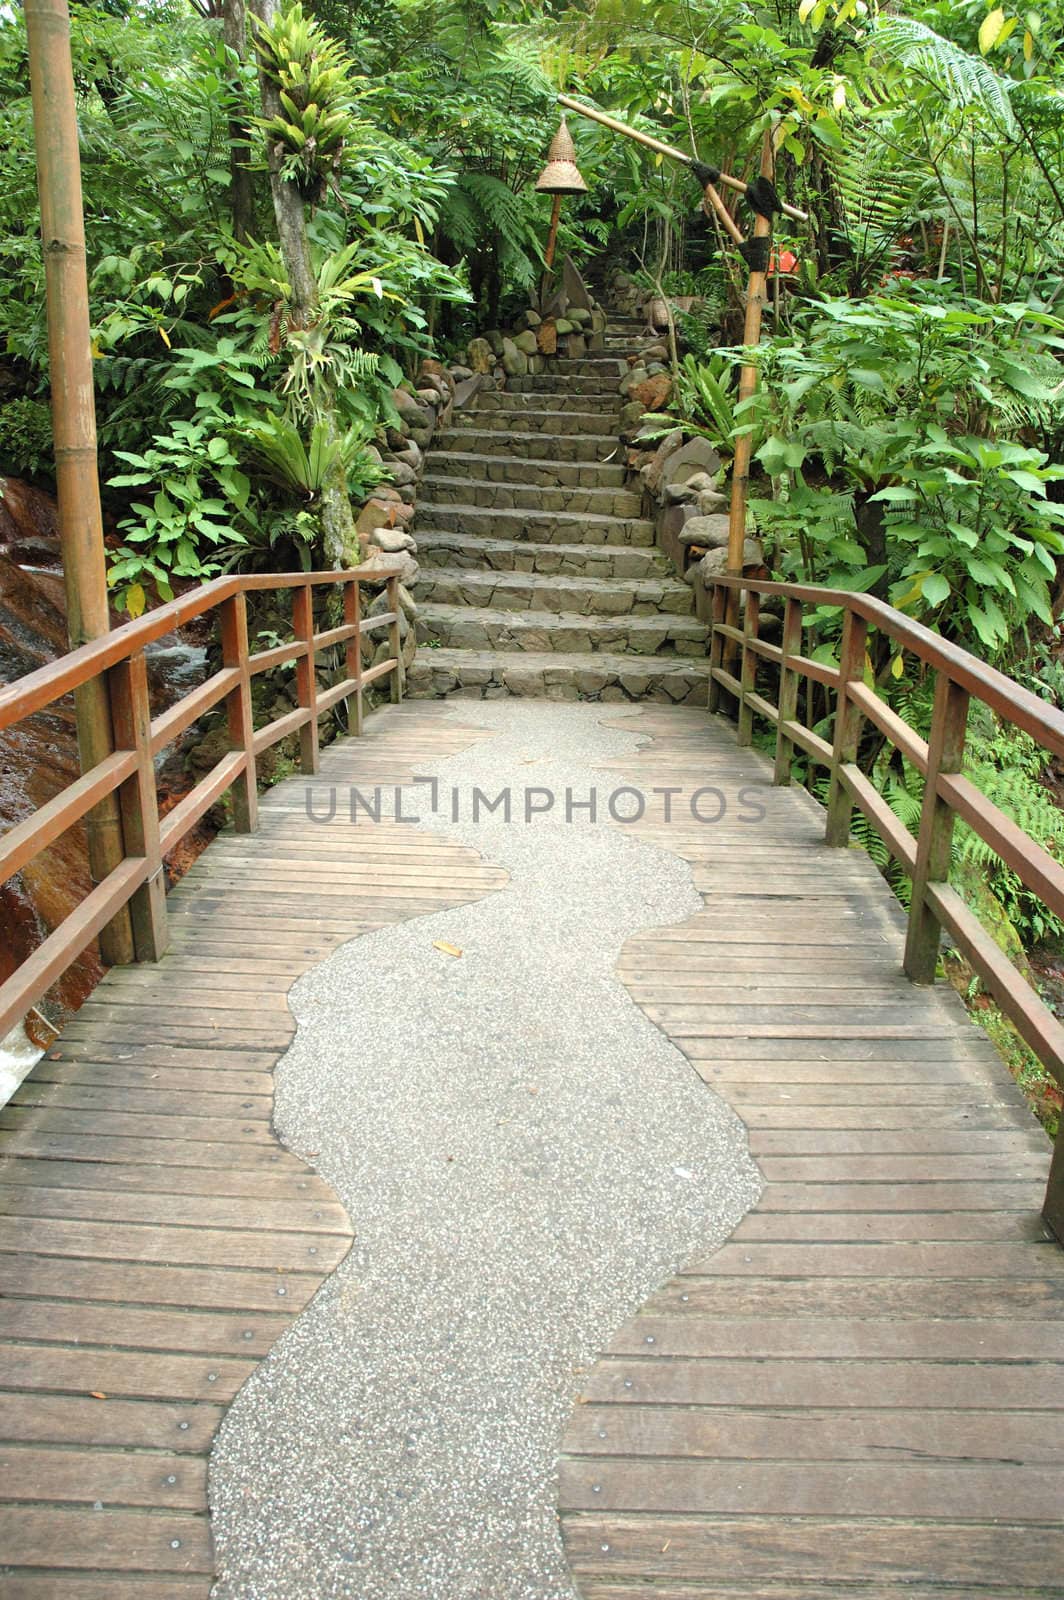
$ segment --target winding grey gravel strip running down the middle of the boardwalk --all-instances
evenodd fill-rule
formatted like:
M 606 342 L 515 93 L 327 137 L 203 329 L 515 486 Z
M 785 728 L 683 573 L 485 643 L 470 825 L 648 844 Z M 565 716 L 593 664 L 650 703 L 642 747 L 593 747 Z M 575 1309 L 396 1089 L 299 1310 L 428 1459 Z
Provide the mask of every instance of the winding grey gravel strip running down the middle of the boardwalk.
M 595 765 L 643 742 L 608 710 L 464 702 L 493 738 L 427 770 L 466 811 L 474 784 L 606 795 Z M 629 936 L 701 909 L 690 869 L 576 816 L 426 808 L 509 888 L 291 992 L 277 1126 L 357 1238 L 221 1429 L 216 1600 L 571 1600 L 555 1458 L 581 1374 L 757 1198 L 742 1125 L 613 976 Z

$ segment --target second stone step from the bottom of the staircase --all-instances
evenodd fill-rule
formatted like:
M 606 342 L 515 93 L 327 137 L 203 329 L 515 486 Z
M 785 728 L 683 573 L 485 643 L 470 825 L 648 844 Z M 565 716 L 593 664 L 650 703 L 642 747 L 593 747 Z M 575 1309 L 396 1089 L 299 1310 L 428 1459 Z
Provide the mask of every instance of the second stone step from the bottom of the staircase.
M 576 616 L 490 606 L 419 605 L 418 642 L 445 650 L 563 651 L 566 654 L 694 656 L 706 659 L 707 627 L 693 616 Z

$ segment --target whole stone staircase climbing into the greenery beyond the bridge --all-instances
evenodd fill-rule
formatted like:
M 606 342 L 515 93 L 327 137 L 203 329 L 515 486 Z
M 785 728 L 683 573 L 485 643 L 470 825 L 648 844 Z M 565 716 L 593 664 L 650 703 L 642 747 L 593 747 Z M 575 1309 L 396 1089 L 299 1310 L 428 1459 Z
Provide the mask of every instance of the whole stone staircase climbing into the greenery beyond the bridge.
M 704 702 L 706 627 L 626 488 L 618 384 L 640 333 L 611 323 L 603 350 L 478 394 L 434 440 L 410 694 Z

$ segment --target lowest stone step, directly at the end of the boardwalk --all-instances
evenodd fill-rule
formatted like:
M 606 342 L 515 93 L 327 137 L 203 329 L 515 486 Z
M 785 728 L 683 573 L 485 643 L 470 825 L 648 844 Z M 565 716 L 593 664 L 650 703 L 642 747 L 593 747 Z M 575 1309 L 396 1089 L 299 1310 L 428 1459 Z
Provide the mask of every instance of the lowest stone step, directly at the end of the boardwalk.
M 408 669 L 406 693 L 416 699 L 458 693 L 475 699 L 530 694 L 541 699 L 650 699 L 706 706 L 709 662 L 675 656 L 643 656 L 634 661 L 608 651 L 587 656 L 421 650 Z M 515 803 L 523 802 L 515 795 Z

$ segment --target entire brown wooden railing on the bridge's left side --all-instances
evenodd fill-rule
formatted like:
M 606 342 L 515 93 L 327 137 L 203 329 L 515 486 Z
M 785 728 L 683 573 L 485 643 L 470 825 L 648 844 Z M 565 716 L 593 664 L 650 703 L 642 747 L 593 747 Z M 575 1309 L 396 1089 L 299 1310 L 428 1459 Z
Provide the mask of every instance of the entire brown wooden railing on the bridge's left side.
M 387 610 L 362 616 L 362 579 L 387 584 Z M 314 590 L 341 587 L 344 622 L 314 632 Z M 246 594 L 293 592 L 293 640 L 272 650 L 248 651 Z M 171 634 L 197 616 L 216 611 L 221 627 L 221 667 L 158 717 L 150 715 L 146 645 Z M 386 661 L 363 670 L 362 637 L 389 630 Z M 91 941 L 130 907 L 133 949 L 141 962 L 154 962 L 166 949 L 166 891 L 163 856 L 194 827 L 210 806 L 230 794 L 234 826 L 253 832 L 258 822 L 256 762 L 272 744 L 299 734 L 304 773 L 318 770 L 318 717 L 347 701 L 349 728 L 362 733 L 363 691 L 390 677 L 392 699 L 402 698 L 398 622 L 398 570 L 371 571 L 354 566 L 336 573 L 285 573 L 261 578 L 221 578 L 136 622 L 117 627 L 91 645 L 82 645 L 59 661 L 40 667 L 0 690 L 0 731 L 64 694 L 106 677 L 114 730 L 114 754 L 85 771 L 34 816 L 0 838 L 0 883 L 6 883 L 61 834 L 80 822 L 93 806 L 117 794 L 122 819 L 122 858 L 96 883 L 74 912 L 38 946 L 19 970 L 0 986 L 0 1038 L 35 1005 Z M 318 688 L 315 656 L 344 645 L 346 677 L 328 690 Z M 296 662 L 296 707 L 264 728 L 251 717 L 251 678 L 282 662 Z M 166 816 L 158 814 L 154 757 L 214 706 L 224 704 L 229 752 Z

